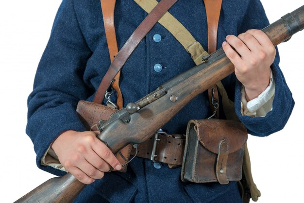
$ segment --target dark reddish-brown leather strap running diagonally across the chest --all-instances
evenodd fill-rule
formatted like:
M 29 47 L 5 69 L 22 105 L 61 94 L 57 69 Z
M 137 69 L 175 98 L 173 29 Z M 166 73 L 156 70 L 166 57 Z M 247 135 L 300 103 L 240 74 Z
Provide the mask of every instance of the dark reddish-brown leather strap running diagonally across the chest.
M 138 46 L 140 41 L 148 34 L 156 22 L 169 10 L 169 8 L 177 0 L 162 0 L 160 3 L 155 6 L 152 12 L 140 23 L 136 28 L 134 33 L 130 36 L 127 42 L 123 45 L 121 50 L 118 52 L 117 56 L 110 65 L 110 68 L 103 77 L 101 84 L 96 92 L 94 102 L 101 103 L 103 101 L 105 92 L 111 81 L 126 63 L 132 52 Z

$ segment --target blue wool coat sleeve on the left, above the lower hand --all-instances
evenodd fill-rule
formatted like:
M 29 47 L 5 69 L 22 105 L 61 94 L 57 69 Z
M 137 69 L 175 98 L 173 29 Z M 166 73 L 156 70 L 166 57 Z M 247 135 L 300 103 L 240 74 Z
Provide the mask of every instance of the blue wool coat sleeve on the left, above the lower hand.
M 85 130 L 75 109 L 79 100 L 85 100 L 94 92 L 83 80 L 90 55 L 73 1 L 63 0 L 36 71 L 33 92 L 28 98 L 26 127 L 26 133 L 34 143 L 37 166 L 56 175 L 64 172 L 42 166 L 40 160 L 58 135 L 67 130 Z

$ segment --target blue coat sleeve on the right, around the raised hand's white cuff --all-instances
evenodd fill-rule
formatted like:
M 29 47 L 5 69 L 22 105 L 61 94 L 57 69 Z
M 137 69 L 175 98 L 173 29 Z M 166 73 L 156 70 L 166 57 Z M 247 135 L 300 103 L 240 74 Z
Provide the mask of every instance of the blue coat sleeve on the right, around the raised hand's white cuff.
M 264 8 L 259 0 L 251 0 L 247 7 L 238 32 L 243 33 L 248 29 L 262 29 L 269 25 Z M 272 110 L 265 117 L 250 117 L 241 115 L 241 83 L 236 80 L 235 109 L 236 115 L 247 127 L 248 133 L 257 136 L 267 136 L 284 128 L 292 112 L 294 101 L 286 84 L 284 75 L 279 68 L 279 54 L 277 54 L 271 70 L 275 82 L 275 93 Z

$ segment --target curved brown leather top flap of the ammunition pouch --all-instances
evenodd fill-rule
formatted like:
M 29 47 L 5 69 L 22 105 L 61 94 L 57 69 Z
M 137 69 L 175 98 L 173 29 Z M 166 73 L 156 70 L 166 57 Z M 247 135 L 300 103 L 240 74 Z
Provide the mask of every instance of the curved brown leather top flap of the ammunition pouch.
M 203 119 L 189 122 L 195 124 L 194 130 L 202 145 L 216 154 L 221 140 L 226 140 L 229 153 L 241 149 L 247 141 L 247 129 L 240 121 Z

